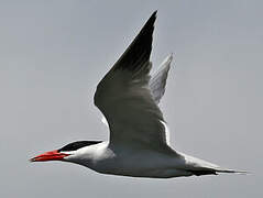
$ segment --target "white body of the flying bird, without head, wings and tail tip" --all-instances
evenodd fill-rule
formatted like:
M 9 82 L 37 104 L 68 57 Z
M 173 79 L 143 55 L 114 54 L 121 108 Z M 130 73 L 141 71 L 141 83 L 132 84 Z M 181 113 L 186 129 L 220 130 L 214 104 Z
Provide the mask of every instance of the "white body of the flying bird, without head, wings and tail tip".
M 199 175 L 201 172 L 212 174 L 212 168 L 217 167 L 169 148 L 151 151 L 101 142 L 83 147 L 78 152 L 77 157 L 69 155 L 66 161 L 85 165 L 98 173 L 111 175 L 169 178 Z M 215 170 L 213 174 L 216 174 Z

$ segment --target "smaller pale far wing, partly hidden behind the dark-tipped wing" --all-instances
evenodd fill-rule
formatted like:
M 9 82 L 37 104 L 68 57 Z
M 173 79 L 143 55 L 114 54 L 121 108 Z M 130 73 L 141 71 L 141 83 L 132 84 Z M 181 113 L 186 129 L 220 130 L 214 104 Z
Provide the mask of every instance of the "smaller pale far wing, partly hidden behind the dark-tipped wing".
M 164 96 L 167 75 L 169 72 L 173 55 L 167 56 L 160 66 L 160 69 L 151 78 L 149 86 L 155 103 L 158 103 Z

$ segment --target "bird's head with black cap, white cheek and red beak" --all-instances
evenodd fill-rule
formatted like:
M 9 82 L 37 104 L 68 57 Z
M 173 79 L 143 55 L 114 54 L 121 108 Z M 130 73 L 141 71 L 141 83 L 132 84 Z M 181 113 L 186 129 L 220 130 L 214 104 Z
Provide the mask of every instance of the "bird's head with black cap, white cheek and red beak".
M 77 141 L 69 143 L 63 146 L 59 150 L 54 150 L 50 152 L 45 152 L 41 155 L 37 155 L 31 158 L 31 162 L 47 162 L 47 161 L 66 161 L 68 156 L 76 155 L 79 148 L 89 146 L 92 144 L 98 144 L 102 141 Z

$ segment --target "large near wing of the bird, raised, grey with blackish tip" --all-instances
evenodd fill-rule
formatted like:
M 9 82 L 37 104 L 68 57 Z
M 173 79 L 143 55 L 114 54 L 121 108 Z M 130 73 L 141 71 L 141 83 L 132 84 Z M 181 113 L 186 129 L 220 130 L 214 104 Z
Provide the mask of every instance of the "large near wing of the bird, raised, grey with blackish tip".
M 156 12 L 97 86 L 95 105 L 110 128 L 110 143 L 166 148 L 165 122 L 149 88 Z

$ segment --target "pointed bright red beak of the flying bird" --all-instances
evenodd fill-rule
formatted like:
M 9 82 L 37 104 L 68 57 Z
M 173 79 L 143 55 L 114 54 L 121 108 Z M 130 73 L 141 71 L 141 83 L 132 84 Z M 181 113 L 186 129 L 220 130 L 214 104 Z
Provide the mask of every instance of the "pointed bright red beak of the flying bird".
M 59 153 L 57 150 L 45 152 L 30 160 L 30 162 L 63 161 L 69 154 Z

